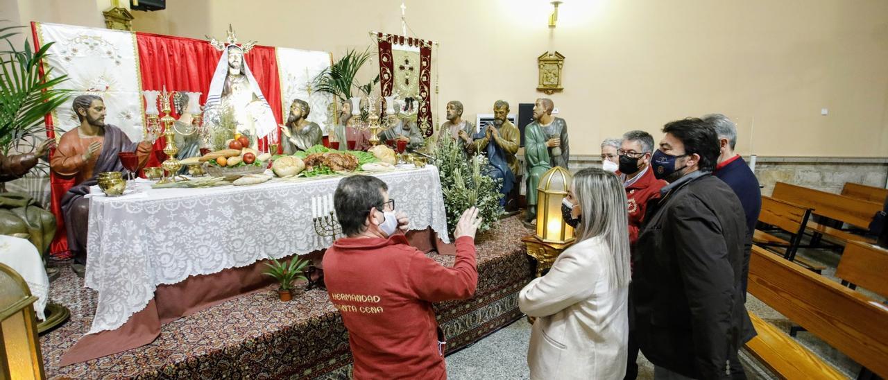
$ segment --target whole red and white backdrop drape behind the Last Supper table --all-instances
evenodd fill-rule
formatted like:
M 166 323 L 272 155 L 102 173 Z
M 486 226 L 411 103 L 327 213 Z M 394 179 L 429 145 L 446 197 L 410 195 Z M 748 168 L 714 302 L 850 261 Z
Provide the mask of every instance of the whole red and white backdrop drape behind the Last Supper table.
M 71 104 L 75 96 L 90 93 L 105 100 L 105 123 L 139 141 L 145 125 L 141 91 L 164 87 L 168 91 L 199 91 L 203 104 L 221 55 L 208 41 L 193 38 L 41 22 L 32 22 L 31 28 L 36 45 L 54 43 L 50 57 L 44 60 L 43 72 L 50 77 L 68 75 L 61 87 L 74 91 L 66 104 L 46 116 L 46 134 L 51 139 L 79 125 Z M 286 120 L 293 99 L 308 101 L 312 106 L 309 120 L 325 130 L 334 123 L 332 97 L 313 92 L 311 84 L 330 66 L 329 52 L 256 46 L 244 55 L 244 61 L 275 111 L 277 123 Z M 173 117 L 178 117 L 175 111 Z M 280 138 L 280 131 L 278 134 Z M 155 149 L 163 149 L 163 145 L 163 138 L 158 139 Z M 156 166 L 156 159 L 151 160 L 148 166 Z M 59 255 L 67 251 L 61 197 L 74 183 L 52 172 L 50 177 L 51 210 L 59 224 L 51 251 Z

